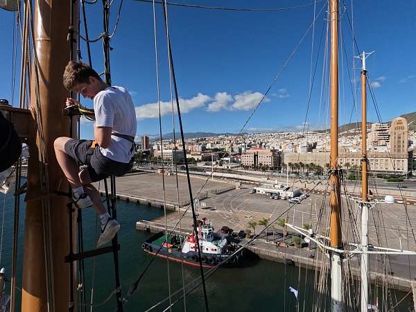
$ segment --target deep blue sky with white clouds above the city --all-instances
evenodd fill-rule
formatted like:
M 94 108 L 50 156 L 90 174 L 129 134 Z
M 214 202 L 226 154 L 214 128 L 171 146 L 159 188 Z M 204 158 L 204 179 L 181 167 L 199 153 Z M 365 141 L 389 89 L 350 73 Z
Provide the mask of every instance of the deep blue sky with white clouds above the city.
M 284 8 L 310 3 L 293 10 L 245 12 L 168 6 L 168 29 L 184 132 L 236 133 L 247 121 L 243 132 L 302 131 L 329 126 L 326 1 L 175 2 L 227 8 Z M 119 0 L 114 0 L 111 29 L 118 8 Z M 173 132 L 171 92 L 163 11 L 158 4 L 155 15 L 162 132 L 168 133 Z M 14 20 L 14 13 L 0 10 L 0 67 L 3 69 L 0 98 L 9 101 Z M 87 5 L 87 23 L 91 38 L 103 31 L 101 1 Z M 354 61 L 358 51 L 353 44 L 353 33 L 360 51 L 375 51 L 367 58 L 367 70 L 381 121 L 415 112 L 416 1 L 341 1 L 341 124 L 361 120 L 355 109 L 360 103 L 354 102 L 361 93 L 357 85 L 361 64 L 358 59 Z M 126 87 L 132 95 L 137 135 L 157 135 L 159 106 L 151 3 L 123 1 L 111 46 L 112 84 Z M 87 62 L 85 42 L 82 55 Z M 103 71 L 101 42 L 92 44 L 92 64 L 96 71 Z M 18 84 L 18 75 L 16 79 Z M 15 90 L 17 98 L 18 87 Z M 263 103 L 252 114 L 263 96 Z M 82 103 L 92 107 L 90 100 Z M 17 105 L 16 100 L 14 104 Z M 379 121 L 370 96 L 367 118 Z M 81 137 L 91 138 L 92 131 L 93 123 L 83 120 Z

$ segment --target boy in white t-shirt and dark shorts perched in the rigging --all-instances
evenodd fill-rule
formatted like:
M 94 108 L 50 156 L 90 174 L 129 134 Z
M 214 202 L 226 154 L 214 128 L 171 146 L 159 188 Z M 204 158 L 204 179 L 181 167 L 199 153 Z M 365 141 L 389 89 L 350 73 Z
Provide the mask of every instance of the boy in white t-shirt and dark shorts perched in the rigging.
M 94 69 L 83 62 L 70 61 L 64 71 L 64 86 L 94 101 L 94 141 L 70 137 L 55 139 L 58 163 L 72 189 L 76 207 L 92 205 L 101 221 L 97 248 L 109 243 L 120 228 L 110 217 L 92 182 L 109 175 L 123 175 L 135 155 L 136 114 L 132 98 L 123 87 L 109 86 Z M 79 105 L 67 98 L 67 106 Z M 87 168 L 78 172 L 78 164 Z

